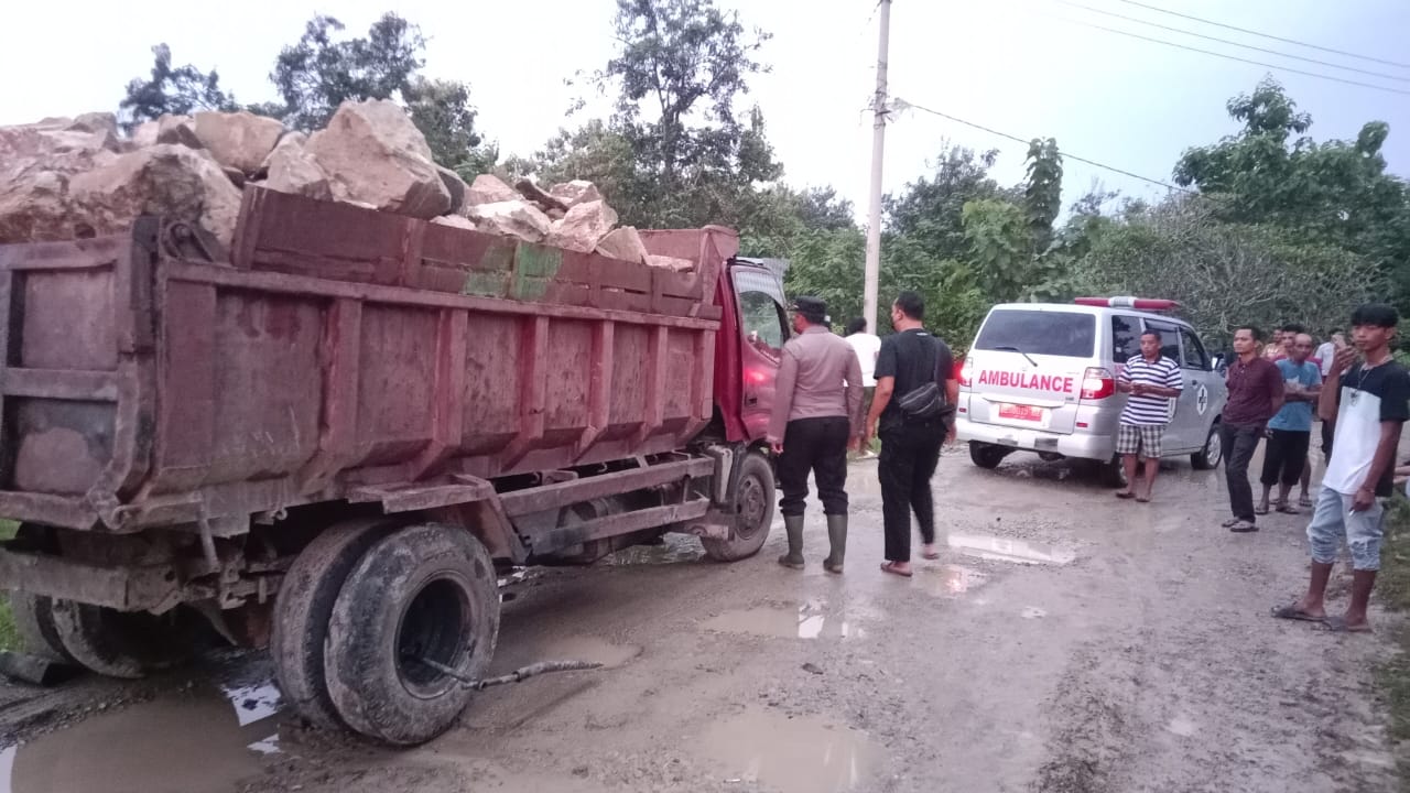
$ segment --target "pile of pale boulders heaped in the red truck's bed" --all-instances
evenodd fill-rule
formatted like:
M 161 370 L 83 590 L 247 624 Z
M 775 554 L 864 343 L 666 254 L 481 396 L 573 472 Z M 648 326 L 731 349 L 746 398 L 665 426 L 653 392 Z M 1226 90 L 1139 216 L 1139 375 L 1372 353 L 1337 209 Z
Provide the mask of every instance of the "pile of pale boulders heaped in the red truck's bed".
M 310 135 L 251 113 L 164 116 L 118 134 L 109 113 L 0 127 L 0 244 L 121 231 L 140 214 L 197 223 L 230 246 L 255 185 L 673 270 L 591 182 L 465 183 L 400 106 L 345 102 Z

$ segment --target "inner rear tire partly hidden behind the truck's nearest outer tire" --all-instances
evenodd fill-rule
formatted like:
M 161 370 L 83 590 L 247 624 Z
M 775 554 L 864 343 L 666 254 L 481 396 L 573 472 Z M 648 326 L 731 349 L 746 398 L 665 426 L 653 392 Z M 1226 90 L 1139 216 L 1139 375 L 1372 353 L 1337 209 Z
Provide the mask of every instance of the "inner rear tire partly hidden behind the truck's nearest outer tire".
M 329 698 L 323 672 L 323 645 L 333 604 L 352 567 L 395 528 L 386 518 L 330 526 L 299 552 L 279 587 L 269 638 L 275 680 L 283 700 L 316 727 L 345 727 Z

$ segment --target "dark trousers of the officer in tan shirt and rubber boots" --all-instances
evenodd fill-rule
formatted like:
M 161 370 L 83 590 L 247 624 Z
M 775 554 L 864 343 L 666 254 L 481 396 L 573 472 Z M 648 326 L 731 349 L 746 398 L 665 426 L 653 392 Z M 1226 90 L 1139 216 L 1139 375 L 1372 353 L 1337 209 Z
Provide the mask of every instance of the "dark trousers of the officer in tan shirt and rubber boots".
M 828 515 L 847 514 L 847 437 L 852 422 L 845 416 L 795 419 L 784 430 L 784 453 L 778 457 L 778 487 L 784 497 L 778 511 L 802 515 L 808 498 L 808 471 L 818 483 L 818 500 Z

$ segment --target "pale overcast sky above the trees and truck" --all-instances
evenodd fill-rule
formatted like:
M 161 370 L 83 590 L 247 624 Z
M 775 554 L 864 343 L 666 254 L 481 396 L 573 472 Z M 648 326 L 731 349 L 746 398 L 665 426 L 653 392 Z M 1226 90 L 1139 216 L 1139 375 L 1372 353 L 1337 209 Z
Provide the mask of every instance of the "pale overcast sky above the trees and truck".
M 1337 75 L 1410 92 L 1410 68 L 1251 37 L 1160 14 L 1122 0 L 1072 0 L 1238 40 L 1266 49 L 1385 72 L 1375 78 L 1276 55 L 1200 41 L 1101 16 L 1062 0 L 895 0 L 891 16 L 891 95 L 1021 138 L 1056 137 L 1069 154 L 1153 179 L 1169 181 L 1189 145 L 1235 131 L 1224 104 L 1273 72 L 1311 113 L 1311 134 L 1354 138 L 1368 120 L 1390 124 L 1386 157 L 1410 175 L 1410 95 L 1389 93 L 1239 63 L 1122 37 L 1090 25 Z M 1289 40 L 1410 63 L 1407 0 L 1145 0 L 1180 13 Z M 721 0 L 740 8 L 746 25 L 774 34 L 763 52 L 773 73 L 754 79 L 757 102 L 790 183 L 833 185 L 864 216 L 871 158 L 866 106 L 873 90 L 876 0 Z M 178 63 L 217 68 L 241 102 L 274 99 L 268 72 L 281 47 L 302 34 L 314 13 L 331 14 L 364 34 L 386 10 L 419 24 L 430 38 L 426 73 L 471 85 L 479 127 L 505 154 L 530 154 L 565 120 L 582 89 L 564 86 L 574 72 L 601 68 L 612 55 L 615 0 L 247 0 L 206 11 L 171 3 L 11 3 L 0 47 L 0 124 L 116 109 L 124 83 L 151 68 L 149 47 L 165 41 Z M 16 35 L 17 31 L 25 31 Z M 30 76 L 30 75 L 34 76 Z M 594 110 L 606 111 L 598 100 Z M 1025 145 L 918 110 L 887 131 L 885 189 L 924 175 L 943 140 L 1001 151 L 995 175 L 1022 176 Z M 1069 159 L 1065 199 L 1091 181 L 1127 195 L 1163 189 Z

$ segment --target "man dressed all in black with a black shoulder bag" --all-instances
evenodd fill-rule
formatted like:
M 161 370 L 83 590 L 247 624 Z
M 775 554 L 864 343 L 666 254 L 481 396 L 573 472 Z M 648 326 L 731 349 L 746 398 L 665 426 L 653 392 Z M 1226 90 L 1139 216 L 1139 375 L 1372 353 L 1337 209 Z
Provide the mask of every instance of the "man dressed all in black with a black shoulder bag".
M 881 516 L 885 523 L 884 573 L 911 576 L 911 511 L 925 542 L 922 556 L 936 559 L 935 502 L 931 477 L 940 461 L 940 444 L 953 439 L 952 412 L 932 418 L 907 415 L 900 399 L 929 382 L 940 387 L 946 405 L 959 399 L 955 357 L 938 337 L 926 333 L 925 301 L 915 292 L 901 292 L 891 303 L 895 333 L 881 340 L 877 356 L 877 391 L 867 418 L 867 436 L 881 439 Z

